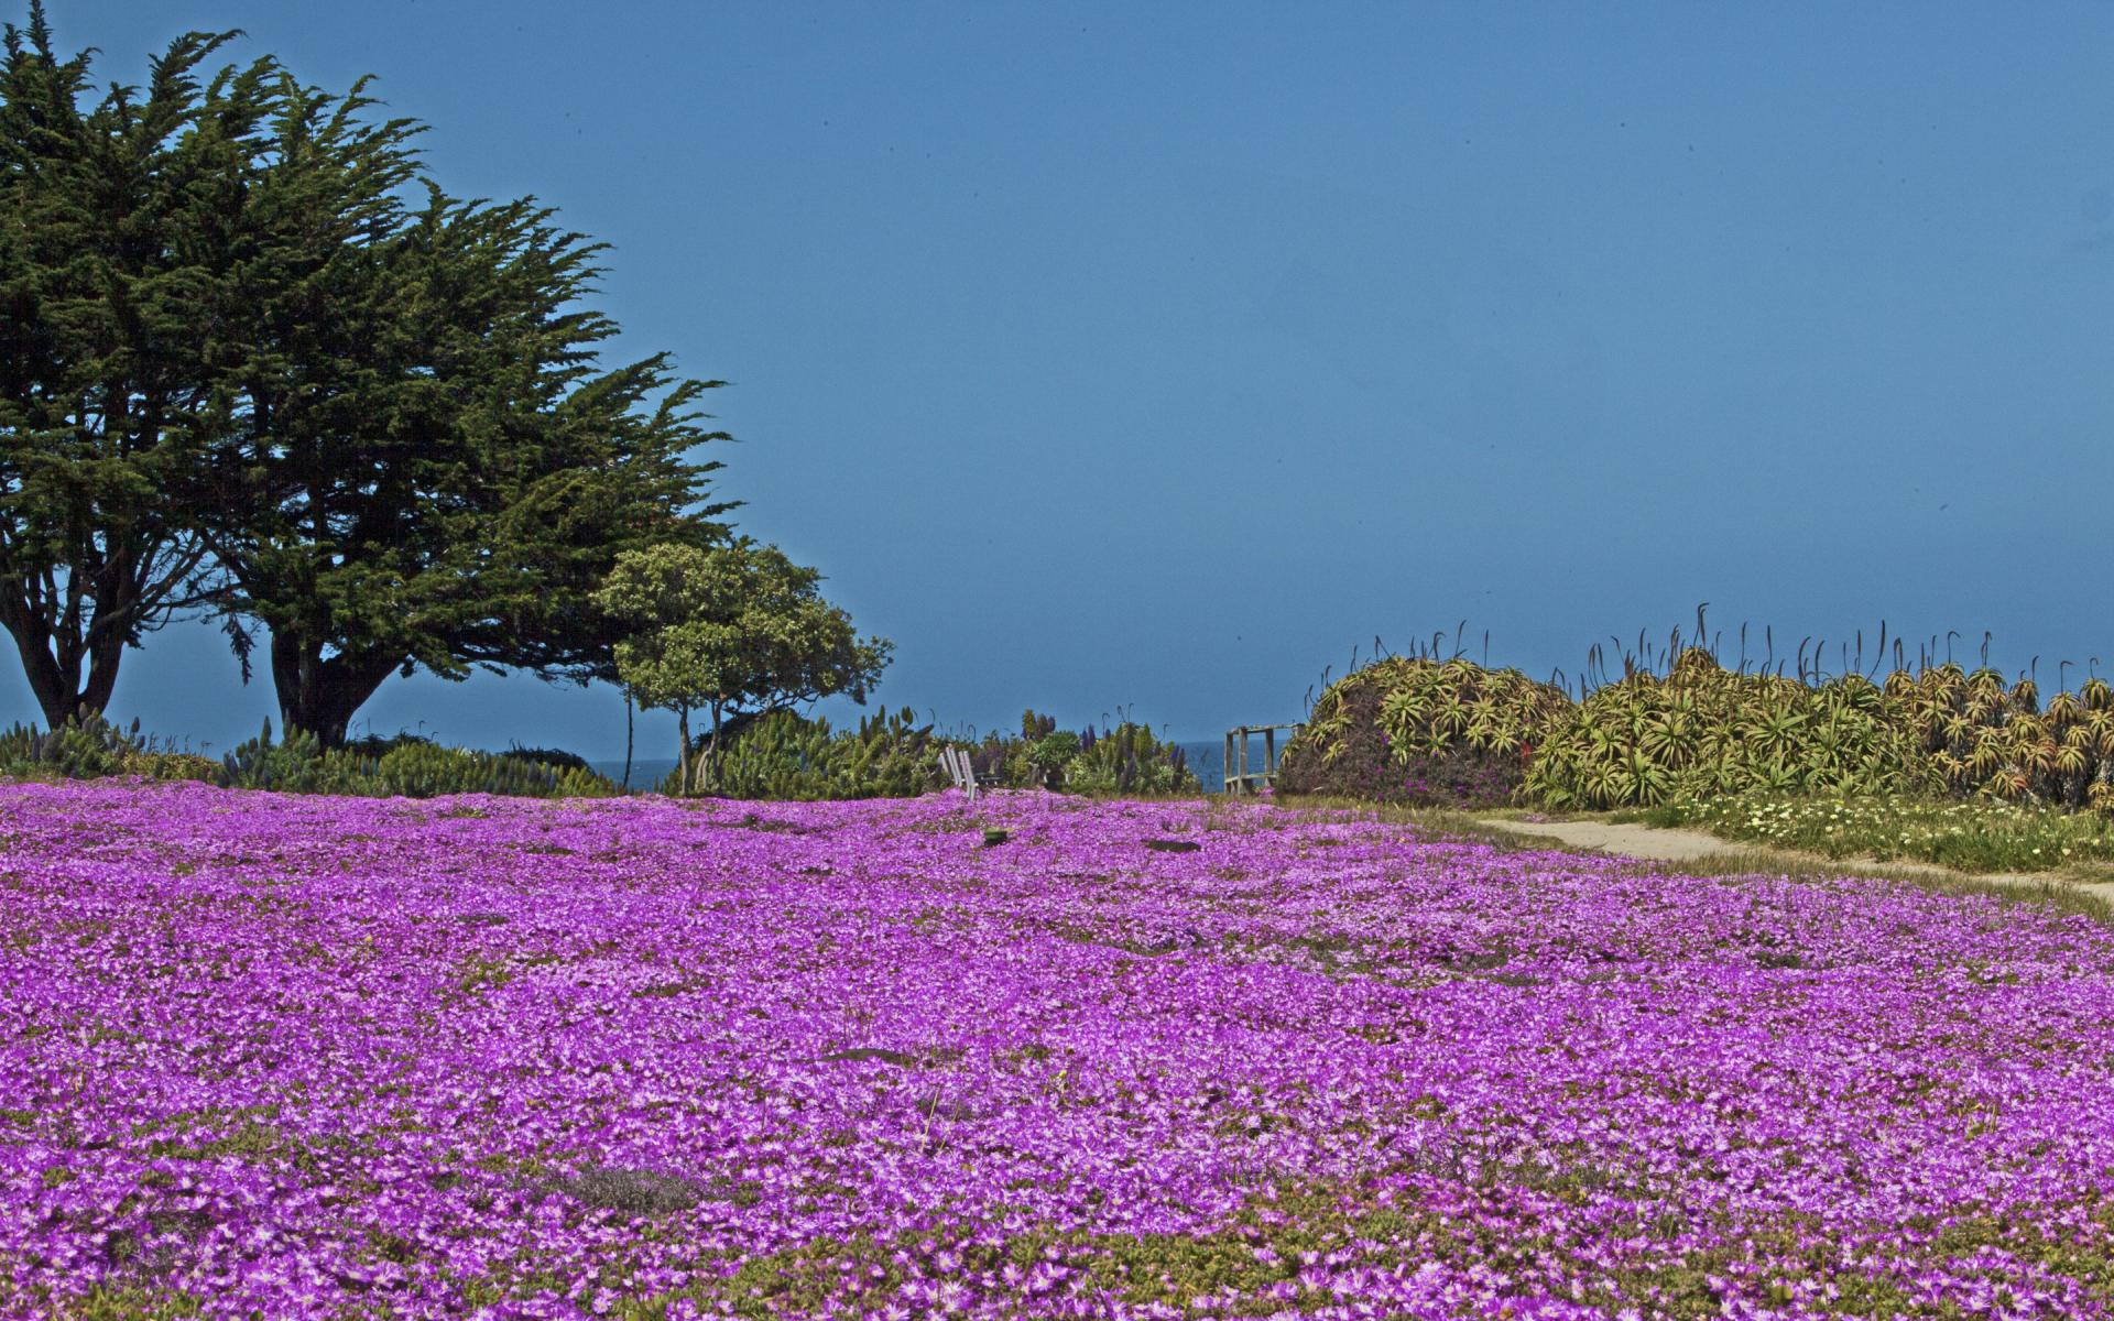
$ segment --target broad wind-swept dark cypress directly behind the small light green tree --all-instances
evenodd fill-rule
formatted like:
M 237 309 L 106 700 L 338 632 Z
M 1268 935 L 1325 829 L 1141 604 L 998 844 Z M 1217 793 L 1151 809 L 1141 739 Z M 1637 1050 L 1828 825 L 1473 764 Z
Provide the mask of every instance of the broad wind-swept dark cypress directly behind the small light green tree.
M 201 528 L 262 621 L 279 710 L 326 742 L 393 672 L 607 672 L 588 600 L 615 556 L 704 543 L 717 438 L 666 357 L 605 370 L 600 252 L 528 201 L 389 184 L 408 148 L 357 89 L 285 89 L 235 275 L 245 361 Z M 340 232 L 285 224 L 334 216 Z

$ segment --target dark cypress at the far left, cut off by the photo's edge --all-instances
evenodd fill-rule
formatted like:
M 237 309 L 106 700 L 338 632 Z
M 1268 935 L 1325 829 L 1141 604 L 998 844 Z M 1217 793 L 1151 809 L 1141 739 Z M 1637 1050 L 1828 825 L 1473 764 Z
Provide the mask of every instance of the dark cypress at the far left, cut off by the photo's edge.
M 0 626 L 47 723 L 93 717 L 142 634 L 201 596 L 167 492 L 218 416 L 222 203 L 262 70 L 201 87 L 190 34 L 91 97 L 42 4 L 0 68 Z

